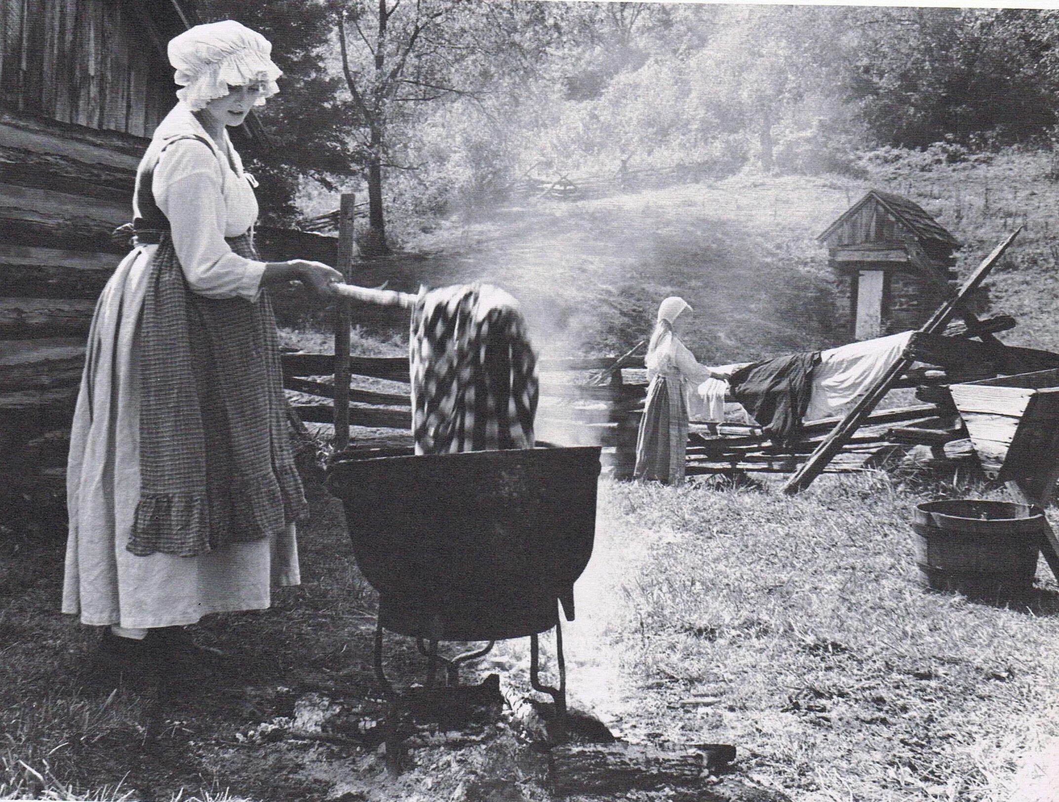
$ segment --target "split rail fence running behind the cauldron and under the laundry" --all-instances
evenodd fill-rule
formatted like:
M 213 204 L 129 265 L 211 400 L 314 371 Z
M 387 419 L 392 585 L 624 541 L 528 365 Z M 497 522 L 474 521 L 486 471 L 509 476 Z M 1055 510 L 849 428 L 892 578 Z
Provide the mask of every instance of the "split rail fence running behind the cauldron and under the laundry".
M 1010 317 L 982 322 L 983 331 L 1008 328 Z M 938 458 L 969 457 L 966 432 L 959 423 L 947 385 L 975 381 L 998 373 L 1016 373 L 1059 367 L 1059 354 L 1031 348 L 995 346 L 969 339 L 966 326 L 944 334 L 913 334 L 905 356 L 920 363 L 902 371 L 890 389 L 916 388 L 922 403 L 872 411 L 823 467 L 823 472 L 847 473 L 878 467 L 910 445 L 929 445 Z M 409 361 L 407 357 L 349 357 L 352 386 L 342 416 L 336 406 L 336 358 L 330 354 L 283 354 L 285 386 L 305 394 L 294 409 L 306 422 L 335 423 L 384 432 L 363 437 L 340 437 L 338 450 L 364 456 L 396 456 L 412 452 Z M 631 475 L 636 433 L 643 415 L 647 385 L 628 376 L 642 372 L 643 359 L 614 357 L 542 360 L 541 400 L 537 414 L 538 439 L 569 445 L 598 444 L 604 461 L 615 476 Z M 365 389 L 371 380 L 398 382 L 387 389 Z M 724 423 L 719 436 L 704 424 L 693 423 L 688 436 L 687 474 L 755 471 L 795 473 L 843 422 L 825 418 L 803 426 L 793 453 L 773 445 L 759 426 Z M 341 427 L 341 422 L 339 427 Z M 338 430 L 336 430 L 338 431 Z M 346 430 L 347 432 L 348 430 Z

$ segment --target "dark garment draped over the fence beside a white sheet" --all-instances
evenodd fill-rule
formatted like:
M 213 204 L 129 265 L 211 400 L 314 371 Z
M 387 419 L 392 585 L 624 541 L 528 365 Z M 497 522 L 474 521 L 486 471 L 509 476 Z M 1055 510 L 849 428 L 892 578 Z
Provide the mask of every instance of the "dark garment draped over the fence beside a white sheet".
M 729 379 L 735 400 L 785 451 L 793 451 L 801 438 L 812 369 L 819 362 L 820 351 L 792 353 L 755 362 Z

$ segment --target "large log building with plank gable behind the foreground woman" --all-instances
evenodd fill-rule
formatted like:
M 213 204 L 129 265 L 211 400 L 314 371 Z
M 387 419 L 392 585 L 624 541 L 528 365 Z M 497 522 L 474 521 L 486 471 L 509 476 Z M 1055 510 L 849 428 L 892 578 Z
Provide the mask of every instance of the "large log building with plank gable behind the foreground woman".
M 0 0 L 0 496 L 62 485 L 88 326 L 128 250 L 110 235 L 177 102 L 166 43 L 197 22 L 189 0 Z M 243 129 L 237 147 L 264 146 Z M 334 238 L 262 240 L 334 263 Z

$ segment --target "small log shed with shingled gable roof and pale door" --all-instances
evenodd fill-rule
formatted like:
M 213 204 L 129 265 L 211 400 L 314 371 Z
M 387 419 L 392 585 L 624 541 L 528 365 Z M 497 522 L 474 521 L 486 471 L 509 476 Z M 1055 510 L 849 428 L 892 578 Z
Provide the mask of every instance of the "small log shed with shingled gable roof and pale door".
M 840 317 L 857 340 L 919 328 L 956 277 L 959 242 L 893 193 L 869 190 L 818 239 L 840 284 Z

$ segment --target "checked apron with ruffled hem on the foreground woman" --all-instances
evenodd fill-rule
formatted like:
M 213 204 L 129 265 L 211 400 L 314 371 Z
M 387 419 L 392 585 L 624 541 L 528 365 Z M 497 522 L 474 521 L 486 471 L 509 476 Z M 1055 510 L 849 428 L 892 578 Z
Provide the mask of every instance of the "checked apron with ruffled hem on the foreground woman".
M 154 206 L 149 187 L 138 181 L 141 209 Z M 172 238 L 158 239 L 139 328 L 141 489 L 128 550 L 193 557 L 280 534 L 306 502 L 267 292 L 199 295 Z M 248 235 L 228 241 L 256 258 Z

